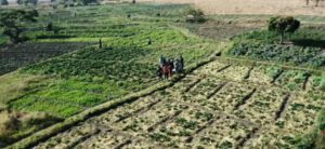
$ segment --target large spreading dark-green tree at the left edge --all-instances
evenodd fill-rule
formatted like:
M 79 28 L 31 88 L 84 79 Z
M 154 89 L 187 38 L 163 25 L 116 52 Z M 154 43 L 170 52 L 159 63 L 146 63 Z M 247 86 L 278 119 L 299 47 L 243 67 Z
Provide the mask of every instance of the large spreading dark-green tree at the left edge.
M 24 32 L 24 25 L 36 22 L 38 12 L 36 10 L 8 10 L 0 13 L 0 28 L 1 33 L 10 38 L 12 43 L 24 41 L 22 32 Z

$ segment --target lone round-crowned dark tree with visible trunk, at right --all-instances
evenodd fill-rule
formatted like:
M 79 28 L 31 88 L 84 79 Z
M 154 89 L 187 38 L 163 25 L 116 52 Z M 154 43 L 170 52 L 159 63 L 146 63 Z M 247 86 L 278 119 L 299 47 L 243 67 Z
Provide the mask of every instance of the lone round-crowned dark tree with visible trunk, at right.
M 294 33 L 299 27 L 300 22 L 292 16 L 276 16 L 269 21 L 269 30 L 281 33 L 281 43 L 283 43 L 286 32 Z

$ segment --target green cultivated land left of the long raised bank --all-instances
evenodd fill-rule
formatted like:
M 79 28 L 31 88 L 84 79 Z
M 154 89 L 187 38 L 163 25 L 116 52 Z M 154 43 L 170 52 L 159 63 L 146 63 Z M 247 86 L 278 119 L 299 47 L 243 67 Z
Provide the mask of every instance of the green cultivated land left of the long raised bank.
M 156 84 L 162 54 L 182 55 L 190 65 L 218 51 L 213 40 L 180 27 L 190 8 L 129 3 L 39 8 L 38 22 L 26 26 L 27 42 L 6 46 L 8 39 L 0 37 L 1 73 L 23 67 L 0 77 L 4 118 L 0 125 L 11 119 L 18 122 L 0 131 L 0 146 Z M 44 31 L 50 21 L 60 31 Z

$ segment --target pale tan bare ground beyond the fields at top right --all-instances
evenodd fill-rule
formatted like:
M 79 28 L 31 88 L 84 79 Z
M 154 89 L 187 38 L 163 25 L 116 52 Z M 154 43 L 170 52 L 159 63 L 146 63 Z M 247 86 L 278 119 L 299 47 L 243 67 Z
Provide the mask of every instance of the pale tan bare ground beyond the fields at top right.
M 314 6 L 306 0 L 138 0 L 151 2 L 195 3 L 208 14 L 280 14 L 325 16 L 325 1 Z

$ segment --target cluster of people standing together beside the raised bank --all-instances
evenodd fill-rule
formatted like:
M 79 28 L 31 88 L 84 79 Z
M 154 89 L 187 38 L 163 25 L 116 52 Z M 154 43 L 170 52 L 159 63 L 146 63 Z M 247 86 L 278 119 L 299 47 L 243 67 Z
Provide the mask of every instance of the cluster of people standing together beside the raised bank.
M 160 80 L 171 78 L 173 73 L 181 73 L 184 69 L 184 59 L 182 55 L 176 59 L 166 58 L 164 55 L 159 58 L 159 66 L 157 69 L 157 76 Z

